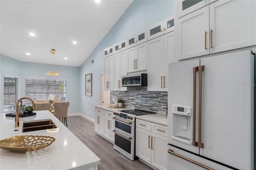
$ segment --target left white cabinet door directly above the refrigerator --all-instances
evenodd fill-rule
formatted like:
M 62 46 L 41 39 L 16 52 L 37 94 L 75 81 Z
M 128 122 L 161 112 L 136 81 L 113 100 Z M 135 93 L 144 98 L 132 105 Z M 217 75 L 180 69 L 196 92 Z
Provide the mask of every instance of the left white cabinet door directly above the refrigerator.
M 175 36 L 179 60 L 209 54 L 208 6 L 178 19 Z

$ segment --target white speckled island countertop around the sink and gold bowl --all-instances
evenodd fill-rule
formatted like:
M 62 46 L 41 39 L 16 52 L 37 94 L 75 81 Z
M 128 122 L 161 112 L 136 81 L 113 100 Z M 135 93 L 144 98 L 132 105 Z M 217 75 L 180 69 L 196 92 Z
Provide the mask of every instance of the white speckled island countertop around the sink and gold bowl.
M 96 156 L 68 128 L 49 111 L 36 111 L 35 116 L 20 118 L 20 127 L 14 127 L 15 117 L 0 114 L 0 140 L 19 135 L 42 135 L 56 138 L 50 146 L 32 152 L 10 152 L 0 149 L 0 169 L 85 169 L 100 164 Z M 23 120 L 52 119 L 58 128 L 22 132 Z M 18 131 L 14 131 L 18 129 Z

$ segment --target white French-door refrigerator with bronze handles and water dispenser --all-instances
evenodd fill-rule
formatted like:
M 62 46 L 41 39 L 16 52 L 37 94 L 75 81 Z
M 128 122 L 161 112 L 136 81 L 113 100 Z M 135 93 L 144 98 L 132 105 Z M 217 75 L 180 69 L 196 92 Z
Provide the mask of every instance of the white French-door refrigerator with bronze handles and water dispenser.
M 251 50 L 168 65 L 168 170 L 254 169 Z

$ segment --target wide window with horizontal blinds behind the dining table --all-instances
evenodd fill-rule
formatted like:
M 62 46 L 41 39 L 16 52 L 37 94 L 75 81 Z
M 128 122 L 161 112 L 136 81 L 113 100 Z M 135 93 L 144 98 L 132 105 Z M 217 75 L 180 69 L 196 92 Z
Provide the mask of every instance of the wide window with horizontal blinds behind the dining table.
M 26 97 L 48 100 L 50 94 L 55 95 L 55 99 L 66 101 L 66 80 L 26 79 Z

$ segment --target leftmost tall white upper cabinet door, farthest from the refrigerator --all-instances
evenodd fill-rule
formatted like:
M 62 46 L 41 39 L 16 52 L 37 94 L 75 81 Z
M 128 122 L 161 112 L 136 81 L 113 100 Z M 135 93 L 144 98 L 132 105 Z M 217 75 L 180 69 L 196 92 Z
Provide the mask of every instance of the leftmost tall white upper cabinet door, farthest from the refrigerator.
M 104 58 L 104 90 L 114 89 L 114 56 Z

